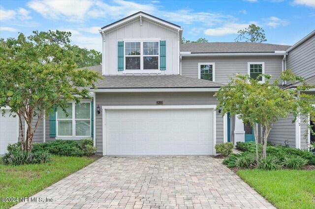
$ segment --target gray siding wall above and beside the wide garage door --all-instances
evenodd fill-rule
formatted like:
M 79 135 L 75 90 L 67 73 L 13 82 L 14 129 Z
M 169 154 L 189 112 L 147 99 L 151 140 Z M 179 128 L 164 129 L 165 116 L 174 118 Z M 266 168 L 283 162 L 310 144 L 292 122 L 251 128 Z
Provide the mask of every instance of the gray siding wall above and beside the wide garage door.
M 218 104 L 213 92 L 96 93 L 95 105 L 202 105 Z M 96 113 L 95 137 L 97 153 L 102 153 L 102 112 Z M 217 143 L 223 142 L 223 117 L 217 111 Z

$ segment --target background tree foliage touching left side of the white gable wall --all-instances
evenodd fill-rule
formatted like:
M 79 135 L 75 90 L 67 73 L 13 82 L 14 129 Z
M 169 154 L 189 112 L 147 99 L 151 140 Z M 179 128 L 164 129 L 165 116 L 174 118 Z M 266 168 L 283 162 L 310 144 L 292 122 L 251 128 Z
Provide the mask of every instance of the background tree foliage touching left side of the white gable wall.
M 71 46 L 71 50 L 75 53 L 74 61 L 78 68 L 100 65 L 102 62 L 101 52 L 80 48 L 76 45 Z

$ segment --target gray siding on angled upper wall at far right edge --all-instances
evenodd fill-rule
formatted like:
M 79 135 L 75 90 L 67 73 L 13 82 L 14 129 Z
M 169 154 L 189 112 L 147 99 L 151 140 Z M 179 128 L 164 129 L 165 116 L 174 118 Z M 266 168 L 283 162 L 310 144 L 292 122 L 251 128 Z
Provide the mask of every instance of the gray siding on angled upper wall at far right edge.
M 289 52 L 286 69 L 303 78 L 315 76 L 315 35 Z

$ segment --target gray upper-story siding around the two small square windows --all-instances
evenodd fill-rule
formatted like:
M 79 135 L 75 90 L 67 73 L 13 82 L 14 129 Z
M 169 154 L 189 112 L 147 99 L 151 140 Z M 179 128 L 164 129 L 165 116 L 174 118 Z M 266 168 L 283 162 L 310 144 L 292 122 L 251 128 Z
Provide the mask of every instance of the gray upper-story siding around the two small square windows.
M 215 63 L 215 82 L 228 83 L 236 73 L 248 74 L 248 62 L 265 62 L 265 74 L 272 76 L 271 82 L 282 72 L 283 56 L 214 56 L 182 57 L 182 76 L 198 78 L 198 63 Z

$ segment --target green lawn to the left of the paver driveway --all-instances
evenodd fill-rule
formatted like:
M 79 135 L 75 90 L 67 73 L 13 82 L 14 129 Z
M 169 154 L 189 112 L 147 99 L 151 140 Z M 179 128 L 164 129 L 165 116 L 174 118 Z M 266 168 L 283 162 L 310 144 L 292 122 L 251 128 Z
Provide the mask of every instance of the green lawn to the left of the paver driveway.
M 0 164 L 0 197 L 30 197 L 53 183 L 92 163 L 89 157 L 53 156 L 46 164 L 3 165 Z M 17 203 L 0 201 L 0 209 Z

